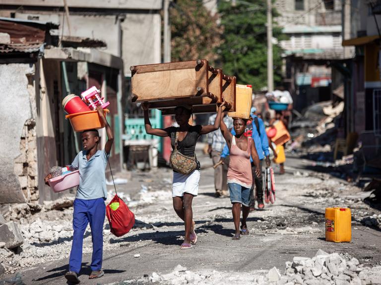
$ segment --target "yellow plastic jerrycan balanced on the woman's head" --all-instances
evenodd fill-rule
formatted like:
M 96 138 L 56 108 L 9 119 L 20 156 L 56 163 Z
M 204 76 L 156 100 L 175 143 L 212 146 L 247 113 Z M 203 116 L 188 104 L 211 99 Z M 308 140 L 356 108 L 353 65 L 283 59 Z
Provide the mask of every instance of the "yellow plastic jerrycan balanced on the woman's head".
M 253 88 L 251 85 L 236 84 L 236 111 L 228 112 L 232 118 L 249 119 L 253 103 Z

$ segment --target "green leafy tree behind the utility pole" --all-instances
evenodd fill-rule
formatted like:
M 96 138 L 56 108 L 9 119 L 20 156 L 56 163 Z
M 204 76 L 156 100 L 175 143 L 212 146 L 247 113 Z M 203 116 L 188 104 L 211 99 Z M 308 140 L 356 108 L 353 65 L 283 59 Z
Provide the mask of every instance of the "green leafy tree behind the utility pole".
M 267 86 L 266 1 L 219 1 L 222 44 L 217 54 L 223 71 L 235 75 L 237 83 L 252 84 L 254 90 Z M 276 16 L 273 10 L 273 16 Z M 279 40 L 281 29 L 274 24 L 273 38 Z M 281 79 L 281 48 L 273 45 L 274 82 Z M 276 86 L 276 85 L 275 85 Z

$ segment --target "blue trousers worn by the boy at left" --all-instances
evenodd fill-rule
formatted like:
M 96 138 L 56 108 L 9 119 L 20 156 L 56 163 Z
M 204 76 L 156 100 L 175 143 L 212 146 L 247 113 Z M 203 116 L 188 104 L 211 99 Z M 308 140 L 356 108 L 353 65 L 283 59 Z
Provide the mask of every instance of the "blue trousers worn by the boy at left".
M 74 200 L 73 212 L 73 242 L 69 258 L 69 271 L 79 273 L 82 264 L 83 234 L 90 223 L 91 240 L 93 242 L 93 255 L 91 257 L 91 270 L 102 268 L 103 256 L 103 222 L 105 221 L 106 205 L 103 198 Z

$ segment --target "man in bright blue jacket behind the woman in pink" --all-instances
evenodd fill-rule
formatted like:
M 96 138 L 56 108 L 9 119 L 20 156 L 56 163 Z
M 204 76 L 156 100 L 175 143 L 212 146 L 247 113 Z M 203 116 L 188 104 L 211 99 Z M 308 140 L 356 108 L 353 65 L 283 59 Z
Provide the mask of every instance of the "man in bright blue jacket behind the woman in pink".
M 268 157 L 269 151 L 268 151 L 268 139 L 266 135 L 266 130 L 264 128 L 264 123 L 263 120 L 258 118 L 255 115 L 256 108 L 252 107 L 251 109 L 251 117 L 253 118 L 253 121 L 249 123 L 246 127 L 245 130 L 245 136 L 251 136 L 255 142 L 255 148 L 256 151 L 258 152 L 259 156 L 259 167 L 262 172 L 262 161 L 265 159 L 266 162 L 266 167 L 270 167 L 270 158 Z M 232 129 L 231 133 L 235 135 L 234 129 Z M 229 147 L 227 144 L 225 144 L 224 149 L 222 150 L 221 153 L 221 158 L 225 158 L 226 156 L 229 155 Z M 258 203 L 258 209 L 263 209 L 264 204 L 263 204 L 263 181 L 262 181 L 262 175 L 260 177 L 257 177 L 255 175 L 255 165 L 253 163 L 253 159 L 250 158 L 252 161 L 252 173 L 253 173 L 253 178 L 254 178 L 254 183 L 251 189 L 251 202 L 250 202 L 250 209 L 254 210 L 254 185 L 256 187 L 256 200 Z

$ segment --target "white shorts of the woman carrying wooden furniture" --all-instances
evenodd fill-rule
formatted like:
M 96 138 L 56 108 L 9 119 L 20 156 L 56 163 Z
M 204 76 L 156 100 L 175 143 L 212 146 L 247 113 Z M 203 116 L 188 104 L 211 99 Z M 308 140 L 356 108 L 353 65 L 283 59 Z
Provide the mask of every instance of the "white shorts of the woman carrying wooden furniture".
M 197 196 L 200 171 L 193 170 L 190 174 L 173 173 L 172 197 L 183 197 L 184 193 Z

